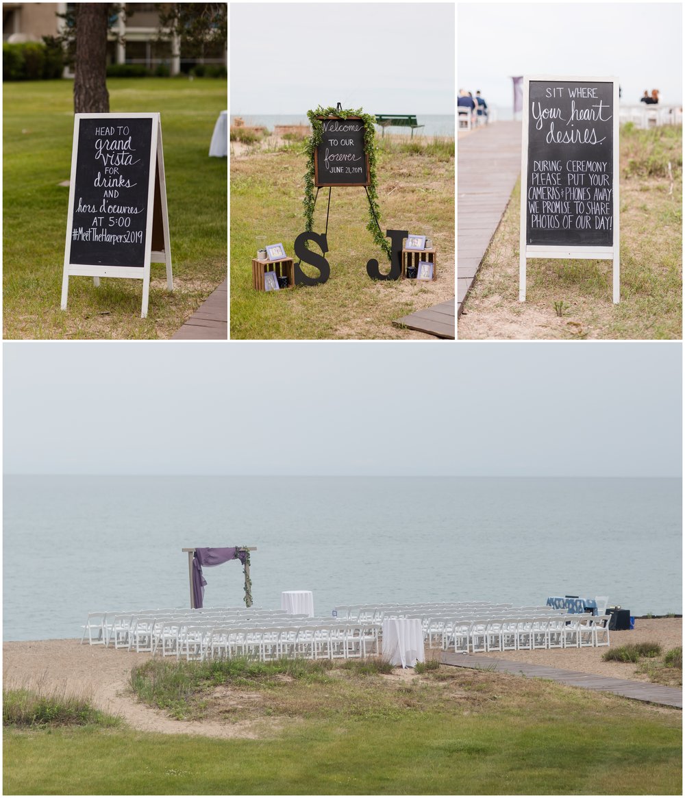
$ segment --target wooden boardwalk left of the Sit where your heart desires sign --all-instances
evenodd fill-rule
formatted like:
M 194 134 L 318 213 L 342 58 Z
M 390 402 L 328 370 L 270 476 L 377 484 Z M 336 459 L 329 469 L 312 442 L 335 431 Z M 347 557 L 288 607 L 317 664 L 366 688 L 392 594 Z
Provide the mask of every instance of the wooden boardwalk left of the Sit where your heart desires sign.
M 521 122 L 494 122 L 457 146 L 457 318 L 521 172 Z

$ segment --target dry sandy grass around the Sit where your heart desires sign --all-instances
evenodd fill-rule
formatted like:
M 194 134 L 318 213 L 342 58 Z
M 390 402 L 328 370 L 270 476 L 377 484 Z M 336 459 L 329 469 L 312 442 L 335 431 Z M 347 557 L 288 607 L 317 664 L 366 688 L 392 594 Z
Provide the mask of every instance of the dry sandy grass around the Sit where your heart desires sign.
M 612 263 L 600 260 L 529 259 L 526 301 L 518 301 L 518 182 L 465 301 L 458 337 L 681 338 L 682 147 L 680 125 L 621 128 L 620 304 L 612 304 Z

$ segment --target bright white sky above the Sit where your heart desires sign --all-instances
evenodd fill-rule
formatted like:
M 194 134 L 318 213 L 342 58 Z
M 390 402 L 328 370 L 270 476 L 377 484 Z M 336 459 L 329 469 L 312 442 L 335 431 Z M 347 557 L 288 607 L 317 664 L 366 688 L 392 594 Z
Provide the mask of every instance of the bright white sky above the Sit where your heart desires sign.
M 457 89 L 512 107 L 512 76 L 614 76 L 622 101 L 683 102 L 682 4 L 459 3 Z

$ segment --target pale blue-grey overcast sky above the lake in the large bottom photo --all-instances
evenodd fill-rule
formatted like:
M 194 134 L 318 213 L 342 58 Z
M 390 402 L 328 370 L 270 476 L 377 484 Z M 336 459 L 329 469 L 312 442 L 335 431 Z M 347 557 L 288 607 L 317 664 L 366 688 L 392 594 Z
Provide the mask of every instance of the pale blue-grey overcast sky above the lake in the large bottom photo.
M 7 473 L 679 476 L 679 343 L 5 342 Z

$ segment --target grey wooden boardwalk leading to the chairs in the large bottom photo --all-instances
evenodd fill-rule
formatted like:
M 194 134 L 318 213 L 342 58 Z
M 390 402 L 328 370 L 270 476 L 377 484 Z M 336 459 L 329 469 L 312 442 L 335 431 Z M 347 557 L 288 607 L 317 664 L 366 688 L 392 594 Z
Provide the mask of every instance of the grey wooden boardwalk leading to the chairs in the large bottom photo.
M 637 701 L 649 701 L 651 704 L 665 704 L 683 709 L 683 689 L 654 685 L 648 681 L 631 681 L 616 679 L 611 676 L 582 674 L 577 670 L 563 670 L 547 665 L 533 665 L 530 662 L 512 662 L 507 659 L 479 656 L 478 654 L 453 654 L 449 651 L 441 653 L 441 662 L 458 668 L 483 668 L 497 670 L 504 674 L 517 674 L 540 679 L 551 679 L 562 685 L 584 687 L 588 690 L 600 690 L 603 693 L 615 693 Z

